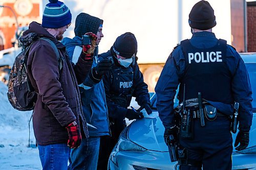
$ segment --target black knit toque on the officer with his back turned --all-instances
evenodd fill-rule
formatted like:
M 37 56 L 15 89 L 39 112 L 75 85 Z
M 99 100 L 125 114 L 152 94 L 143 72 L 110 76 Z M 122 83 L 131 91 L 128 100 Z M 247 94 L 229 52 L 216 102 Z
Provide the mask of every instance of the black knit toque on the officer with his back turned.
M 191 28 L 208 30 L 216 26 L 214 9 L 207 1 L 200 1 L 194 5 L 188 15 L 188 23 Z

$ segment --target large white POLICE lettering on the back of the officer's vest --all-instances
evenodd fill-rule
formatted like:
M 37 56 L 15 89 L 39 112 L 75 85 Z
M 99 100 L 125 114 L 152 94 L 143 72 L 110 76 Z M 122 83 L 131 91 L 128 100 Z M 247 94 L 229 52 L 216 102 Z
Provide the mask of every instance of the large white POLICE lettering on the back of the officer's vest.
M 221 52 L 188 53 L 188 63 L 195 60 L 196 63 L 222 62 Z

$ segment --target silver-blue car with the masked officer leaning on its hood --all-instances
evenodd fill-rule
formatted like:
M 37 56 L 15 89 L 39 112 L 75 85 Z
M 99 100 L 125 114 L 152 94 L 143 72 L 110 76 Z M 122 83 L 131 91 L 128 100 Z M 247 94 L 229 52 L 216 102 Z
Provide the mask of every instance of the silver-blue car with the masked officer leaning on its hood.
M 256 99 L 256 53 L 241 54 L 247 67 L 252 97 Z M 151 107 L 156 110 L 156 94 L 151 93 Z M 175 98 L 175 105 L 178 100 Z M 250 142 L 246 149 L 236 151 L 233 148 L 233 170 L 256 170 L 256 100 L 252 102 L 253 119 L 250 130 Z M 113 149 L 108 169 L 179 169 L 177 162 L 170 162 L 168 148 L 163 139 L 164 127 L 160 118 L 143 118 L 135 120 L 123 130 L 118 143 Z M 232 134 L 236 139 L 237 134 Z M 234 140 L 233 140 L 234 142 Z

